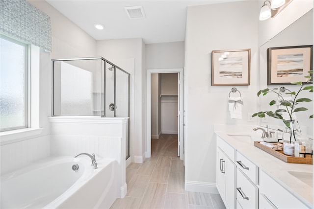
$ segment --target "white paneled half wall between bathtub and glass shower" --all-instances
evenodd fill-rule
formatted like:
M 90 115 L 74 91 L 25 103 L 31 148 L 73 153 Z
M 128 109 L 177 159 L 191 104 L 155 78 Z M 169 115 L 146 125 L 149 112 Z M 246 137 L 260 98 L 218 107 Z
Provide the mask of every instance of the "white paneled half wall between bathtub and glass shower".
M 53 116 L 51 122 L 51 156 L 74 156 L 94 153 L 97 157 L 114 159 L 118 169 L 119 194 L 127 193 L 126 131 L 128 118 L 93 116 Z

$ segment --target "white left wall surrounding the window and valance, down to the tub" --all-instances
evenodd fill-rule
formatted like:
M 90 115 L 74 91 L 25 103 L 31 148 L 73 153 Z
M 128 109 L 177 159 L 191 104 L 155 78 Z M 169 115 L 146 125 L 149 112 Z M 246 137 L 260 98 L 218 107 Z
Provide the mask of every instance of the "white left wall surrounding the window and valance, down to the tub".
M 24 137 L 19 142 L 1 144 L 1 174 L 22 168 L 50 155 L 48 116 L 52 114 L 51 59 L 92 57 L 96 52 L 96 41 L 46 1 L 28 2 L 49 15 L 52 24 L 52 52 L 40 50 L 39 127 L 43 129 L 39 135 Z

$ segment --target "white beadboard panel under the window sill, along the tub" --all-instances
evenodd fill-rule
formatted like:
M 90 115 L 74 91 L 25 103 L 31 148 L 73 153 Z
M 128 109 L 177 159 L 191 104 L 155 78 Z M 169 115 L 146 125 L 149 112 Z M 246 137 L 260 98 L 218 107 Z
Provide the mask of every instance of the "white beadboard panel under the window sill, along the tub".
M 50 156 L 50 135 L 1 145 L 3 175 Z

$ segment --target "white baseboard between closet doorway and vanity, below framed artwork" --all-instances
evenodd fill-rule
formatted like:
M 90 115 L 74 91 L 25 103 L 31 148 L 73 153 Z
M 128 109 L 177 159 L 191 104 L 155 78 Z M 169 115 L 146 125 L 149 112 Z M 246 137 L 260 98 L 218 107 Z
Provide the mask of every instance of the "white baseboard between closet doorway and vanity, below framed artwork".
M 186 191 L 219 194 L 215 183 L 185 181 L 184 187 Z

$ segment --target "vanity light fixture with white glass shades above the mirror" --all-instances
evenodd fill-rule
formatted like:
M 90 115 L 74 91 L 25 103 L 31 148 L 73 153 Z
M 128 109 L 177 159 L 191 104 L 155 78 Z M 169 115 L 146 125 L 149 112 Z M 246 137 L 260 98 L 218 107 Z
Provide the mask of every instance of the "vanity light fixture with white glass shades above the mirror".
M 265 0 L 260 12 L 260 21 L 275 17 L 291 1 L 292 0 Z

